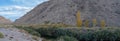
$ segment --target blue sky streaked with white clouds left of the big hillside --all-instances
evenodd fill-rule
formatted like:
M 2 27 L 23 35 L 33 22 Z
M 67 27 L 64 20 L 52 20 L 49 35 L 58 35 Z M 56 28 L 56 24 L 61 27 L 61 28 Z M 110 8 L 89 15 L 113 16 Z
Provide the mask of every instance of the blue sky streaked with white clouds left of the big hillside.
M 0 16 L 15 21 L 45 1 L 48 0 L 0 0 Z

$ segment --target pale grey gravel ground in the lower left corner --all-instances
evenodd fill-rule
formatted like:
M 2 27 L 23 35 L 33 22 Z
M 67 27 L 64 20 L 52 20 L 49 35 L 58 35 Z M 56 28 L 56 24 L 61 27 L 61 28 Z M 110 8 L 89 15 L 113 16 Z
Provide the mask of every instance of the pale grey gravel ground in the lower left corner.
M 42 41 L 41 38 L 35 40 L 32 35 L 16 28 L 0 28 L 0 32 L 4 35 L 0 41 Z

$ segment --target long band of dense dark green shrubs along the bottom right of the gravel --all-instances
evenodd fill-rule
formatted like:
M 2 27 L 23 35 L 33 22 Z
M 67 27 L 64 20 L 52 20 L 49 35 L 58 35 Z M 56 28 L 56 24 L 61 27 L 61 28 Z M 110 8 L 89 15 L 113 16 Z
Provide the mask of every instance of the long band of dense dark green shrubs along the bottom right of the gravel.
M 119 41 L 120 28 L 78 28 L 78 27 L 17 27 L 22 28 L 34 35 L 54 41 L 54 40 L 72 40 L 76 41 Z M 37 32 L 37 34 L 35 33 Z M 47 41 L 47 40 L 46 40 Z

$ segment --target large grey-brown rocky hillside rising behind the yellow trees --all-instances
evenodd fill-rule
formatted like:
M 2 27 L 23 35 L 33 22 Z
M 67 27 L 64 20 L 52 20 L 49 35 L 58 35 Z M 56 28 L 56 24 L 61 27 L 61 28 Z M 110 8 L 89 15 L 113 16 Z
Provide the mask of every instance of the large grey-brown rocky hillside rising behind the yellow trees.
M 105 20 L 107 26 L 120 26 L 120 0 L 50 0 L 39 4 L 15 23 L 40 24 L 45 21 L 76 25 L 76 12 L 82 20 Z

